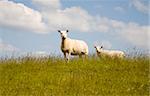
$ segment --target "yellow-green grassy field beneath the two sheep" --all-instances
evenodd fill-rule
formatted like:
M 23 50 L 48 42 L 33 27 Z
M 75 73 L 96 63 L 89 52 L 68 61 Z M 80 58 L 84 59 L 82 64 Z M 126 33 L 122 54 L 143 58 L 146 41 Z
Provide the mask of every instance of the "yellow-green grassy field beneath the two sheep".
M 149 58 L 0 60 L 0 96 L 148 96 Z

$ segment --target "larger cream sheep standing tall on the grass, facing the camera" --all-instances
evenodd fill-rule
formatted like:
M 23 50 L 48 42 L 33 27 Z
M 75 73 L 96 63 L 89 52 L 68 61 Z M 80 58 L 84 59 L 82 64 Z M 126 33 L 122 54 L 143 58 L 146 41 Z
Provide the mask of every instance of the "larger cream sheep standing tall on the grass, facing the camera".
M 68 30 L 58 32 L 61 35 L 61 51 L 64 54 L 64 58 L 69 61 L 70 55 L 88 55 L 88 45 L 82 40 L 70 39 L 67 37 Z

